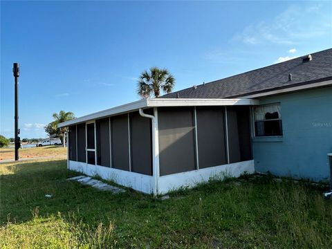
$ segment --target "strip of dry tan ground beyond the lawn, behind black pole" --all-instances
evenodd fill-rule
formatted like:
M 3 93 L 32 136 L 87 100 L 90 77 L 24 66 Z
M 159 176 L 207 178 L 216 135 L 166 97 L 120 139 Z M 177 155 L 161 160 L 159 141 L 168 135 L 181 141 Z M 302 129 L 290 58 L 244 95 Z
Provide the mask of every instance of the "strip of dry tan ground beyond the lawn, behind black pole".
M 0 162 L 1 160 L 13 159 L 14 154 L 15 154 L 14 148 L 1 148 Z M 67 154 L 67 148 L 55 145 L 19 149 L 19 158 L 66 156 L 66 154 Z

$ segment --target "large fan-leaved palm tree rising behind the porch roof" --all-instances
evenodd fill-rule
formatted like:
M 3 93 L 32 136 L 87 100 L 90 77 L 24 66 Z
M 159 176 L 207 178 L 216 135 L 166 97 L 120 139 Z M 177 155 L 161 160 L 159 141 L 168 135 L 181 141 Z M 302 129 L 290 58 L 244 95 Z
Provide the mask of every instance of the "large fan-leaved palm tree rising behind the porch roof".
M 141 98 L 150 98 L 152 94 L 158 98 L 160 89 L 164 93 L 172 93 L 174 84 L 175 79 L 167 69 L 151 67 L 149 72 L 141 73 L 138 79 L 137 93 Z

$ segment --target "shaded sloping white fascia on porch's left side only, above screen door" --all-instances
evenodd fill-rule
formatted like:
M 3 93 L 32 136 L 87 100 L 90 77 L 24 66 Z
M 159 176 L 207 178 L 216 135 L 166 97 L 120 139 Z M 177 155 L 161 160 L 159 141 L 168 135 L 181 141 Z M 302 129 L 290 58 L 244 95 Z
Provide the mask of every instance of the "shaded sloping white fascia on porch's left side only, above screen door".
M 66 126 L 71 125 L 71 124 L 78 124 L 80 122 L 85 122 L 86 120 L 95 120 L 95 119 L 98 119 L 98 118 L 104 118 L 104 117 L 107 117 L 107 116 L 112 116 L 114 114 L 125 113 L 127 111 L 132 111 L 132 110 L 145 108 L 145 107 L 147 107 L 147 100 L 142 99 L 142 100 L 138 100 L 136 102 L 131 102 L 131 103 L 128 103 L 128 104 L 122 104 L 118 107 L 113 107 L 111 109 L 107 109 L 107 110 L 104 110 L 104 111 L 98 111 L 96 113 L 91 113 L 89 115 L 82 116 L 80 118 L 75 118 L 73 120 L 62 122 L 62 123 L 58 124 L 57 127 L 66 127 Z

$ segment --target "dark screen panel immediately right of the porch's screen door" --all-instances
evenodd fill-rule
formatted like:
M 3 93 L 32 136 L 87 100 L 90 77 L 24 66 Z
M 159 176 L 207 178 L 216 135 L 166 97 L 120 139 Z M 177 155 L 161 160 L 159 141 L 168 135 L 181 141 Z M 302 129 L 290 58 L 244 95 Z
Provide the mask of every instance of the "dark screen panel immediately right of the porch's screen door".
M 105 167 L 111 167 L 109 130 L 109 118 L 95 120 L 97 165 Z

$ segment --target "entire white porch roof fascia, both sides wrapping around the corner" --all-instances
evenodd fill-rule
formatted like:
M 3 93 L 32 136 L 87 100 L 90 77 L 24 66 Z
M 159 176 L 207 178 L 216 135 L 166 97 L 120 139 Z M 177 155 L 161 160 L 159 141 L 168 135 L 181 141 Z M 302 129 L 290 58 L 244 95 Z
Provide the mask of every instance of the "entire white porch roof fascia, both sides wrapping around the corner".
M 87 120 L 95 120 L 113 116 L 120 113 L 135 111 L 146 107 L 199 107 L 199 106 L 232 106 L 232 105 L 256 105 L 259 100 L 244 99 L 181 99 L 181 98 L 154 98 L 150 100 L 142 99 L 129 104 L 122 104 L 119 107 L 114 107 L 104 111 L 91 113 L 80 118 L 75 118 L 66 122 L 58 124 L 57 127 L 66 127 L 71 124 L 78 124 L 86 122 Z

